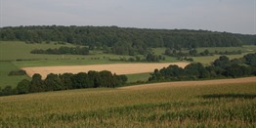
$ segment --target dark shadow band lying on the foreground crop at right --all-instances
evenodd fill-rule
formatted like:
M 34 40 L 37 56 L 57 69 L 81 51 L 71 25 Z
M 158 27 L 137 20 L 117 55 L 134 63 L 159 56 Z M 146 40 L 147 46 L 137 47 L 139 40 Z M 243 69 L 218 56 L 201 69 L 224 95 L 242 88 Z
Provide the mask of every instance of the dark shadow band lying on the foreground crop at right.
M 255 99 L 256 94 L 212 94 L 212 95 L 202 95 L 199 97 L 203 99 L 223 99 L 223 98 Z

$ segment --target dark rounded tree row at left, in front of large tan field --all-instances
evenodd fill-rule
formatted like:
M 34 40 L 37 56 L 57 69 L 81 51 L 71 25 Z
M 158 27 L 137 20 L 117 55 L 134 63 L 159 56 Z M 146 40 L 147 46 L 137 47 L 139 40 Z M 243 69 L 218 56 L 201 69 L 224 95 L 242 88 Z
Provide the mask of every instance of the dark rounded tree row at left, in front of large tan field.
M 51 73 L 44 80 L 40 74 L 36 73 L 32 76 L 31 81 L 21 80 L 15 89 L 11 86 L 0 89 L 0 96 L 82 88 L 114 88 L 124 84 L 126 81 L 127 77 L 125 75 L 112 74 L 107 70 L 59 75 Z

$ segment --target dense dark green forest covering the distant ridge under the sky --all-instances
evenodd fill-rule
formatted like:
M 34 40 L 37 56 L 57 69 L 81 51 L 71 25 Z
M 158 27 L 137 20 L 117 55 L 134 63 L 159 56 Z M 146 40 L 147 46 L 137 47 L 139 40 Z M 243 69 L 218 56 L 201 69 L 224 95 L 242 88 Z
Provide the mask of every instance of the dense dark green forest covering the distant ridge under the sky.
M 29 43 L 68 42 L 118 55 L 148 53 L 148 48 L 231 47 L 255 44 L 256 35 L 187 29 L 122 28 L 117 26 L 17 26 L 0 28 L 0 40 Z M 111 50 L 109 49 L 111 48 Z

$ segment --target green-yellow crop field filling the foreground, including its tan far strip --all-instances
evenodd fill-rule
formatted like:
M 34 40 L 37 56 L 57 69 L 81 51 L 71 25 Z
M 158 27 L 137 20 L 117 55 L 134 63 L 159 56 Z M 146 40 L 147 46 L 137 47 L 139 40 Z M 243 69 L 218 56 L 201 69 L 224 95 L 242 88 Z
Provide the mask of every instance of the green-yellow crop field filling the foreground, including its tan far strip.
M 0 127 L 255 127 L 256 78 L 0 97 Z

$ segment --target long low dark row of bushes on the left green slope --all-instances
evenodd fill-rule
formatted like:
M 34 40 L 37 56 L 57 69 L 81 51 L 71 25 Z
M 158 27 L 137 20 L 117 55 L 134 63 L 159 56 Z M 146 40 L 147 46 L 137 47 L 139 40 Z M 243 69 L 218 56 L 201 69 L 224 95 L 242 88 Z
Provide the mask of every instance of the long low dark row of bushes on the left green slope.
M 70 55 L 89 55 L 89 49 L 87 47 L 60 47 L 59 49 L 34 49 L 30 52 L 31 54 L 55 54 L 55 55 L 61 55 L 61 54 L 70 54 Z

